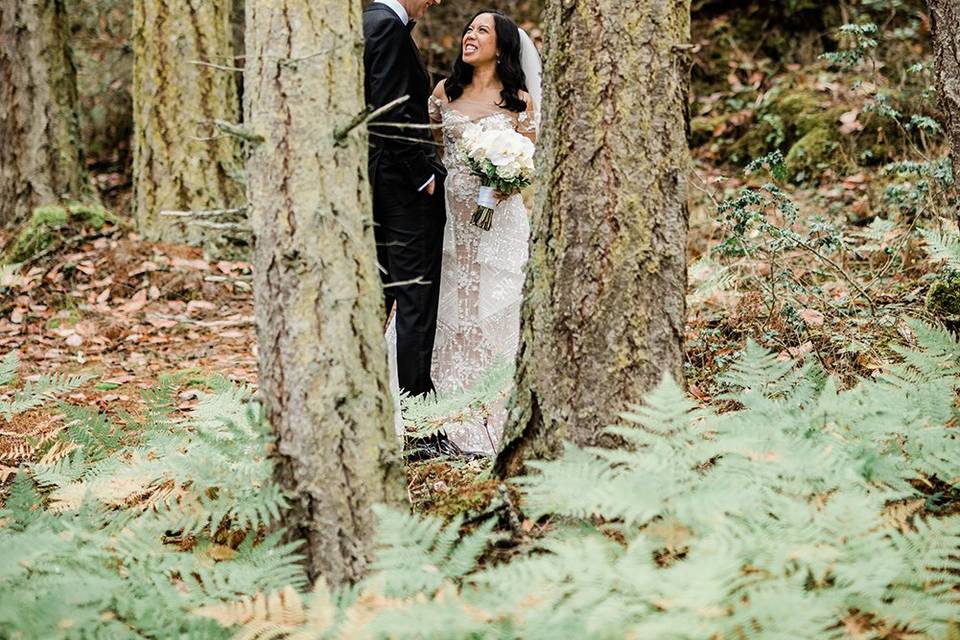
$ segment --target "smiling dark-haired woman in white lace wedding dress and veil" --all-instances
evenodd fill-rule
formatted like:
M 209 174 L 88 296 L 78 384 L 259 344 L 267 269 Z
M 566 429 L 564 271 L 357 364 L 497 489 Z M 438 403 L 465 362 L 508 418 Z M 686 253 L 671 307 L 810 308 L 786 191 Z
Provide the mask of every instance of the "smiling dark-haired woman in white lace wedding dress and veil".
M 525 31 L 499 11 L 475 15 L 463 30 L 451 75 L 429 100 L 435 137 L 447 168 L 447 223 L 432 378 L 440 393 L 469 387 L 498 360 L 512 362 L 520 338 L 523 267 L 528 256 L 529 212 L 523 196 L 497 194 L 493 228 L 471 222 L 480 180 L 460 159 L 465 127 L 513 129 L 536 142 L 541 64 Z M 396 340 L 391 325 L 391 386 L 396 382 Z M 493 453 L 506 420 L 501 399 L 484 424 L 447 425 L 466 451 Z M 403 431 L 397 418 L 397 429 Z

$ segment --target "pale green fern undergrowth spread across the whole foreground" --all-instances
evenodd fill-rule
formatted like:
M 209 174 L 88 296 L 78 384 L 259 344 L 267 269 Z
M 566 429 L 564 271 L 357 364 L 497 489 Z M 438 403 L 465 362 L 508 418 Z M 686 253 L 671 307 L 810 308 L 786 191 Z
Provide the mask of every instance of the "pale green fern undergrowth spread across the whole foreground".
M 259 533 L 283 498 L 244 390 L 214 379 L 181 418 L 167 380 L 125 424 L 62 405 L 72 449 L 22 468 L 0 512 L 0 635 L 948 638 L 960 343 L 909 326 L 852 388 L 754 343 L 724 375 L 732 410 L 664 380 L 610 428 L 626 447 L 568 446 L 519 481 L 549 526 L 510 561 L 478 566 L 492 520 L 383 509 L 370 575 L 309 595 Z

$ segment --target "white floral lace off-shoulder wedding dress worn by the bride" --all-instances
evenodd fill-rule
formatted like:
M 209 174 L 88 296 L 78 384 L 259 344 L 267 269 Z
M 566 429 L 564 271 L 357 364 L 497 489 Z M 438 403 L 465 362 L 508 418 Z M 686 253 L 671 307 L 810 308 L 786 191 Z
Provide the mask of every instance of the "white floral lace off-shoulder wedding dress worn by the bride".
M 430 98 L 431 120 L 443 125 L 443 162 L 447 168 L 447 225 L 432 363 L 433 382 L 439 393 L 470 387 L 498 358 L 512 362 L 516 357 L 529 212 L 523 196 L 516 194 L 497 205 L 492 229 L 475 227 L 471 218 L 477 208 L 480 179 L 460 160 L 457 147 L 471 122 L 482 123 L 487 129 L 514 129 L 534 136 L 535 106 L 531 99 L 527 102 L 526 112 L 514 113 L 462 98 L 451 103 L 436 96 Z M 392 323 L 386 338 L 391 388 L 398 395 Z M 480 423 L 447 425 L 450 439 L 468 451 L 493 453 L 506 421 L 505 402 L 506 398 L 501 398 Z M 397 433 L 402 434 L 399 403 L 396 408 Z

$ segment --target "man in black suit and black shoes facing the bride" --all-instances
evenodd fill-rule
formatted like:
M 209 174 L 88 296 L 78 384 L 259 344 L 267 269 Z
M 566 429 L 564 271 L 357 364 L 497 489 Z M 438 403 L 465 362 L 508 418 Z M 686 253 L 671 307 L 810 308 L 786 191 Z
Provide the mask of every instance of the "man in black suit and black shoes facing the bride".
M 394 303 L 397 307 L 400 388 L 411 395 L 434 390 L 430 361 L 440 298 L 446 170 L 424 126 L 430 124 L 432 85 L 410 32 L 414 21 L 437 4 L 440 0 L 375 0 L 363 12 L 367 105 L 379 109 L 408 96 L 368 129 L 377 260 L 387 314 Z M 407 446 L 414 449 L 412 457 L 459 453 L 443 435 Z

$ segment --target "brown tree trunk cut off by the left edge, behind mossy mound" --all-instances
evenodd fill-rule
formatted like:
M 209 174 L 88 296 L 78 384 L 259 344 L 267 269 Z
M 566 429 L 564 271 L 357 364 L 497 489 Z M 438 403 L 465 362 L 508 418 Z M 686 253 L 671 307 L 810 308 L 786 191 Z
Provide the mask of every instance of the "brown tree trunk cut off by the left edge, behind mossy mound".
M 63 0 L 0 3 L 0 226 L 93 196 Z

